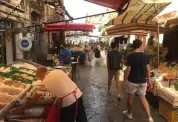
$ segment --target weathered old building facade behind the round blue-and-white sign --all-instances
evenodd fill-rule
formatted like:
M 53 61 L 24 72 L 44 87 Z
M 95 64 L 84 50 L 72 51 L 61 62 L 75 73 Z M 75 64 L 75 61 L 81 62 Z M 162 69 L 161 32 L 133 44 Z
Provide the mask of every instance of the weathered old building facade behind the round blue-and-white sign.
M 64 16 L 57 11 L 55 5 L 58 4 L 54 3 L 48 4 L 44 0 L 0 1 L 0 63 L 47 59 L 51 37 L 44 32 L 44 24 L 60 21 Z M 32 43 L 28 51 L 19 47 L 23 37 L 29 38 Z

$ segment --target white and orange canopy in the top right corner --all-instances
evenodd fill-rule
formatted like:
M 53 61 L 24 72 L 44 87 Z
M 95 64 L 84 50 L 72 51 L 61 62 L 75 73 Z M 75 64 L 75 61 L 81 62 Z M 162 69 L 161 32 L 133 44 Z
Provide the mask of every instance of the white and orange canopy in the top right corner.
M 167 22 L 168 20 L 178 17 L 178 0 L 174 0 L 167 8 L 165 8 L 160 14 L 158 14 L 153 21 L 158 23 Z

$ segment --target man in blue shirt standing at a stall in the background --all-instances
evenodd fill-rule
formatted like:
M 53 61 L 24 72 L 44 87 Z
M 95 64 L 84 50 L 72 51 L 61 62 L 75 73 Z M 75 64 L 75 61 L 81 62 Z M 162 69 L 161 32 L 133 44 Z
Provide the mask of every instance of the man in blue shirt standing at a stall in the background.
M 66 44 L 60 45 L 60 64 L 61 65 L 71 65 L 71 50 Z

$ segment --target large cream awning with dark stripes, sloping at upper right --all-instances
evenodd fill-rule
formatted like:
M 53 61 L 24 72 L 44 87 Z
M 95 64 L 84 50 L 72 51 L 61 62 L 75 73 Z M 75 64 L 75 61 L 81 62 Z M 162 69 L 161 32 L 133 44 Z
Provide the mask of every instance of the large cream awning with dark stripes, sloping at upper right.
M 170 3 L 161 3 L 157 6 L 156 4 L 148 4 L 140 2 L 139 0 L 132 0 L 128 9 L 115 19 L 110 20 L 107 25 L 131 23 L 156 25 L 156 22 L 153 22 L 152 19 L 162 10 L 164 10 L 169 4 Z

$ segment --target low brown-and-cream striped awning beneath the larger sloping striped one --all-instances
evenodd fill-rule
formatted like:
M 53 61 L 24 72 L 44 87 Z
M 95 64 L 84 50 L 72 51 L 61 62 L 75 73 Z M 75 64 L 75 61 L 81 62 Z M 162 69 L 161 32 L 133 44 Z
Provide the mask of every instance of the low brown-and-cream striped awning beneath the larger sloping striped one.
M 160 27 L 160 33 L 165 33 L 169 29 Z M 108 35 L 141 35 L 146 36 L 150 32 L 157 32 L 156 25 L 148 24 L 122 24 L 107 28 Z

